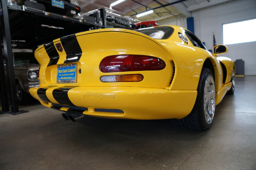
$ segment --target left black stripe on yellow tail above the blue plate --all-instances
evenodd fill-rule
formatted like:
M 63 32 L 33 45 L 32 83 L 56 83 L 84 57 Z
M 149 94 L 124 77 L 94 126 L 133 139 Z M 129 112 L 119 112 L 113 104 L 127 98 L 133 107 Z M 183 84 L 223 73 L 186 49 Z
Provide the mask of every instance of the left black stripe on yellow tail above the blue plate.
M 50 43 L 44 44 L 44 48 L 45 48 L 45 51 L 47 52 L 47 54 L 50 58 L 48 66 L 57 64 L 58 59 L 60 58 L 60 56 L 59 56 L 59 54 L 58 54 L 58 52 L 57 52 L 57 50 L 54 46 L 53 41 L 50 42 Z

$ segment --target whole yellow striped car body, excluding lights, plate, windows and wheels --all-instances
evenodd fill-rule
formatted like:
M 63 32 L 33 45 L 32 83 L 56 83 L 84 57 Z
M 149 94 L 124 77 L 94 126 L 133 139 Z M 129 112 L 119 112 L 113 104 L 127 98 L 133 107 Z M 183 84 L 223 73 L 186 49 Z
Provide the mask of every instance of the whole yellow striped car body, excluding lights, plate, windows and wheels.
M 215 74 L 218 104 L 231 88 L 233 61 L 221 58 L 228 72 L 223 82 L 221 64 L 215 55 L 195 47 L 190 41 L 181 40 L 178 34 L 183 33 L 184 28 L 172 28 L 172 36 L 165 40 L 155 40 L 136 31 L 107 28 L 77 33 L 44 44 L 35 51 L 35 58 L 41 65 L 41 84 L 30 88 L 29 92 L 43 105 L 61 111 L 72 110 L 68 106 L 73 106 L 83 114 L 105 118 L 182 119 L 192 111 L 201 70 L 204 63 L 210 61 Z M 100 71 L 99 63 L 105 57 L 129 54 L 162 59 L 166 67 L 157 71 Z M 69 64 L 76 64 L 76 82 L 58 83 L 57 67 Z M 142 74 L 143 80 L 100 80 L 102 76 L 123 74 Z

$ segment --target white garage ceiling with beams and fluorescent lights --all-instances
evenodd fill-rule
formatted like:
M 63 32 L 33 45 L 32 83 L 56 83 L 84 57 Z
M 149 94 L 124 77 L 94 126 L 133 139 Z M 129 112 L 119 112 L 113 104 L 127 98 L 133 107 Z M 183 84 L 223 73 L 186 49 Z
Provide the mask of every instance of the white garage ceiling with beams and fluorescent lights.
M 110 8 L 116 0 L 78 0 L 81 14 L 98 8 Z M 190 17 L 191 11 L 221 5 L 233 0 L 125 0 L 113 6 L 115 13 L 122 16 L 133 16 L 137 22 L 148 20 L 165 20 L 172 17 Z M 154 13 L 143 17 L 136 14 L 154 9 Z

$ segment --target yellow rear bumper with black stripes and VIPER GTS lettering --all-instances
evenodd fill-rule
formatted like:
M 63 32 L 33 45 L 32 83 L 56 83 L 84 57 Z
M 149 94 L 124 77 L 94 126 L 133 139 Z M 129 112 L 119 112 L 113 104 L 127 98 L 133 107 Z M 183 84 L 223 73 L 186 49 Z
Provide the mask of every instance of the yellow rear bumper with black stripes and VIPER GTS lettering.
M 34 87 L 29 92 L 49 108 L 117 119 L 181 119 L 197 96 L 197 91 L 121 86 Z

